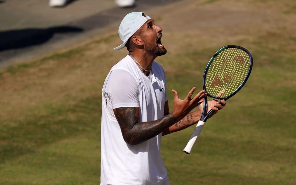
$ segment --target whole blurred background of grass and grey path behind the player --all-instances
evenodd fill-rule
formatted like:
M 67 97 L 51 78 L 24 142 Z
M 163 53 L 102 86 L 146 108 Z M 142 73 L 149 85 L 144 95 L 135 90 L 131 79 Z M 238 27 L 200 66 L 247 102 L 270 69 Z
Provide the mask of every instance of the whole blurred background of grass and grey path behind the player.
M 253 55 L 248 82 L 207 121 L 190 155 L 182 150 L 194 126 L 162 138 L 171 184 L 296 184 L 295 1 L 118 3 L 0 1 L 0 184 L 100 183 L 101 88 L 128 53 L 112 49 L 133 11 L 163 28 L 168 52 L 156 61 L 180 98 L 202 89 L 220 47 Z

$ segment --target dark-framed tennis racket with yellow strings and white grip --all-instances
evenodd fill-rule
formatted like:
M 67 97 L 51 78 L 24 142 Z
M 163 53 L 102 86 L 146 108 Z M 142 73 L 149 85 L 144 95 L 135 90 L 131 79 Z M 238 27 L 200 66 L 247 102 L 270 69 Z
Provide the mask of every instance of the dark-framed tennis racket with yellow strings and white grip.
M 252 55 L 245 48 L 234 45 L 222 47 L 212 56 L 204 71 L 205 92 L 211 98 L 228 100 L 244 86 L 251 73 L 252 65 Z M 183 150 L 186 154 L 190 154 L 205 122 L 213 112 L 214 110 L 210 110 L 207 113 L 207 97 L 205 97 L 202 116 Z

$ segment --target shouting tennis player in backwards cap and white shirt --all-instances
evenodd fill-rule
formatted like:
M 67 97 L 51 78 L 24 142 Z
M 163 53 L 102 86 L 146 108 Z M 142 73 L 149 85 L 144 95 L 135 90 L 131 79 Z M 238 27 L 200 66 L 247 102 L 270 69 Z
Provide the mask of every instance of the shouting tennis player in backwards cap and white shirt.
M 101 185 L 169 185 L 160 156 L 161 137 L 197 123 L 203 107 L 204 90 L 184 100 L 174 93 L 169 112 L 166 76 L 154 61 L 167 50 L 161 43 L 162 28 L 143 12 L 132 12 L 122 20 L 119 36 L 126 55 L 110 70 L 102 93 Z M 209 101 L 218 111 L 225 106 Z M 191 112 L 196 106 L 198 111 Z M 215 107 L 216 106 L 216 107 Z

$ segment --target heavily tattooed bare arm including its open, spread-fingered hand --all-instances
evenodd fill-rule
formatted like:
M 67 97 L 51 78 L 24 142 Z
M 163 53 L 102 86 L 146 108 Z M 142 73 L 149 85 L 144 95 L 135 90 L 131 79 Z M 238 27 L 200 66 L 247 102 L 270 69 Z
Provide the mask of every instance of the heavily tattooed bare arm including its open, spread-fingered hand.
M 125 142 L 130 145 L 139 144 L 153 138 L 180 121 L 192 109 L 202 103 L 203 98 L 207 96 L 207 94 L 204 94 L 204 91 L 200 91 L 191 99 L 194 90 L 195 87 L 191 89 L 184 100 L 180 100 L 178 93 L 172 90 L 175 96 L 174 111 L 155 121 L 138 122 L 139 107 L 120 107 L 113 109 Z

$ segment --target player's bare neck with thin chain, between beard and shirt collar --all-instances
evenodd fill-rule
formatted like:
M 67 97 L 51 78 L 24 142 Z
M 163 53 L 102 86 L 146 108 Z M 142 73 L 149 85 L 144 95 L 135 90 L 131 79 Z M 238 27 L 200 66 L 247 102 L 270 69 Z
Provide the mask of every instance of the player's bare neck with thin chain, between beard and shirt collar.
M 131 52 L 129 52 L 129 54 L 132 55 L 134 57 L 134 59 L 137 60 L 137 62 L 142 66 L 142 68 L 144 68 L 146 70 L 151 70 L 152 63 L 153 63 L 154 59 L 156 58 L 156 56 L 151 55 L 150 53 L 147 53 L 147 52 L 131 51 Z M 142 70 L 140 66 L 138 66 L 138 68 L 146 76 L 149 75 L 150 71 L 149 72 L 146 72 L 146 71 Z

